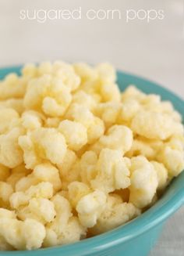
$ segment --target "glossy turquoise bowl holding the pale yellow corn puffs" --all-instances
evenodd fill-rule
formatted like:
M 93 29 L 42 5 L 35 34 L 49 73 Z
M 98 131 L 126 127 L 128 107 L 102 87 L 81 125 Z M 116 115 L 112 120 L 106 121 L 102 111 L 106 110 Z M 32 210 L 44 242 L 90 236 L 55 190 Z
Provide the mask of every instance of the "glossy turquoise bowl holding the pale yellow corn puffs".
M 19 74 L 21 67 L 8 67 L 0 70 L 0 79 L 9 72 Z M 121 90 L 128 85 L 136 85 L 143 92 L 156 93 L 162 99 L 170 100 L 175 109 L 184 118 L 184 102 L 172 92 L 162 88 L 153 81 L 136 77 L 132 74 L 118 72 L 118 84 Z M 154 247 L 161 234 L 161 229 L 168 217 L 184 204 L 184 171 L 175 178 L 160 200 L 144 212 L 140 217 L 119 226 L 107 233 L 94 236 L 86 240 L 35 251 L 7 251 L 0 252 L 4 256 L 146 256 Z M 175 232 L 173 230 L 173 232 Z

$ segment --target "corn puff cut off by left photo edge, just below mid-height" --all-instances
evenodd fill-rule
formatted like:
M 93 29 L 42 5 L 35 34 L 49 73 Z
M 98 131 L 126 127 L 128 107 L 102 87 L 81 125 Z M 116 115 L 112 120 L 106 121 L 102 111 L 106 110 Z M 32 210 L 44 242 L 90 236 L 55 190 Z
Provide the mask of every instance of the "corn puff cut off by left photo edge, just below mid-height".
M 23 135 L 22 128 L 12 128 L 5 135 L 0 135 L 0 164 L 8 168 L 16 168 L 23 162 L 23 151 L 19 147 L 19 136 Z

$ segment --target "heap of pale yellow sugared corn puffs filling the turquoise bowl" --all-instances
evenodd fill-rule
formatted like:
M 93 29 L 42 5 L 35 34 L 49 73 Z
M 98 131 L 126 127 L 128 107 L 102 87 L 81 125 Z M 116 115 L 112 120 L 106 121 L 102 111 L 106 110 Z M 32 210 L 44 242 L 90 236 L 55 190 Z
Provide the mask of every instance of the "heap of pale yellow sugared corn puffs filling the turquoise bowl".
M 108 63 L 0 81 L 0 249 L 72 243 L 136 218 L 184 168 L 172 103 L 119 91 Z

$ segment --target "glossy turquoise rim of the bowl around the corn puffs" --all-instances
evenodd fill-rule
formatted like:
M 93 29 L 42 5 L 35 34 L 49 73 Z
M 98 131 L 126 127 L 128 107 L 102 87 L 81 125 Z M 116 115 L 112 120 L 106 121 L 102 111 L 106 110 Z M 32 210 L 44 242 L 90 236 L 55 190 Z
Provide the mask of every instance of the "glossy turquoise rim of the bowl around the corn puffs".
M 9 74 L 9 72 L 19 72 L 23 65 L 12 66 L 12 67 L 2 67 L 0 68 L 0 74 Z M 184 101 L 176 96 L 173 92 L 169 91 L 167 88 L 158 85 L 154 81 L 150 81 L 147 78 L 143 78 L 128 72 L 123 72 L 121 70 L 117 71 L 118 77 L 121 75 L 126 75 L 127 77 L 136 78 L 140 81 L 147 82 L 149 85 L 154 85 L 154 88 L 160 89 L 162 92 L 167 93 L 169 96 L 177 100 L 177 103 L 181 106 L 184 106 Z M 182 177 L 181 177 L 182 176 Z M 181 178 L 179 178 L 181 177 Z M 176 178 L 177 182 L 179 179 L 184 180 L 184 171 L 182 174 Z M 145 211 L 138 218 L 134 218 L 131 222 L 126 223 L 125 225 L 119 226 L 116 229 L 108 231 L 98 236 L 94 236 L 91 238 L 87 238 L 85 240 L 81 240 L 80 242 L 71 243 L 67 245 L 57 246 L 57 247 L 48 247 L 41 248 L 34 251 L 2 251 L 0 255 L 19 255 L 23 256 L 25 253 L 27 255 L 35 255 L 37 254 L 71 254 L 73 256 L 84 256 L 87 254 L 97 253 L 97 251 L 101 251 L 103 249 L 108 249 L 109 247 L 115 247 L 119 243 L 124 243 L 127 240 L 132 240 L 134 237 L 139 236 L 140 234 L 146 232 L 147 230 L 154 228 L 156 225 L 165 221 L 173 212 L 175 212 L 179 207 L 184 204 L 184 189 L 179 188 L 176 189 L 172 194 L 172 198 L 166 200 L 164 204 L 160 204 L 158 207 L 156 204 L 150 207 L 147 211 Z

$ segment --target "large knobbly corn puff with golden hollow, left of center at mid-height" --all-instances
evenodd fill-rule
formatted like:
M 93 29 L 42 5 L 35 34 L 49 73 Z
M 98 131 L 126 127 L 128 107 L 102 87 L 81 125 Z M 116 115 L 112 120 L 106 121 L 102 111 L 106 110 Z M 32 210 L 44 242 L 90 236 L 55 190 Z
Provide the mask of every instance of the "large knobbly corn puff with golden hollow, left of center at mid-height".
M 55 128 L 37 128 L 27 135 L 20 136 L 19 146 L 23 150 L 27 168 L 34 168 L 41 164 L 42 160 L 61 164 L 67 147 L 64 136 Z

